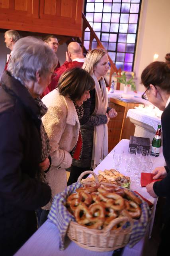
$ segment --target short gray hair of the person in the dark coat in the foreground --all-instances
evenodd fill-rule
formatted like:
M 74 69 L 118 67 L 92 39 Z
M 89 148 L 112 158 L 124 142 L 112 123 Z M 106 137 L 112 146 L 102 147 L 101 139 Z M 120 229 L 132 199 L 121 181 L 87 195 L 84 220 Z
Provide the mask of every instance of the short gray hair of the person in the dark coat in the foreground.
M 54 51 L 42 40 L 27 36 L 14 44 L 7 70 L 21 82 L 36 81 L 36 72 L 45 77 L 55 68 L 58 59 Z

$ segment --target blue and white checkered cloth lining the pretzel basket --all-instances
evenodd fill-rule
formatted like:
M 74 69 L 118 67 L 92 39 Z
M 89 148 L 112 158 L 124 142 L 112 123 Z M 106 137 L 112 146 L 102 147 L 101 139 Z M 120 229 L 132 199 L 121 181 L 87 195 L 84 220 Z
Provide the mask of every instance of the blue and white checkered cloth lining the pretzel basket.
M 64 250 L 64 238 L 70 224 L 70 221 L 75 221 L 74 217 L 65 207 L 66 198 L 75 192 L 76 188 L 80 188 L 82 184 L 80 182 L 73 183 L 68 186 L 63 192 L 57 194 L 53 200 L 53 204 L 51 206 L 51 210 L 49 212 L 48 218 L 49 220 L 55 224 L 59 230 L 59 249 Z M 136 194 L 135 194 L 136 195 Z M 136 195 L 138 196 L 138 195 Z M 145 235 L 147 224 L 149 222 L 151 211 L 147 202 L 143 199 L 141 204 L 142 214 L 140 220 L 135 220 L 131 237 L 129 240 L 128 246 L 133 247 L 143 236 Z

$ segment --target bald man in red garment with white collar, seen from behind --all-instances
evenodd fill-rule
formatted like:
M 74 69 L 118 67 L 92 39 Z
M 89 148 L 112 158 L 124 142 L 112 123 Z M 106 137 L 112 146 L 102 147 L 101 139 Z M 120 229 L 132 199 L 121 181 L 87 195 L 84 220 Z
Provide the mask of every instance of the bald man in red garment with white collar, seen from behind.
M 80 47 L 80 44 L 78 44 L 77 42 L 71 42 L 70 44 L 68 44 L 67 50 L 68 51 L 66 52 L 66 61 L 60 68 L 57 68 L 57 70 L 55 70 L 57 76 L 55 76 L 53 78 L 53 81 L 51 81 L 49 88 L 50 92 L 57 87 L 59 78 L 64 73 L 64 71 L 70 70 L 71 68 L 75 67 L 81 68 L 83 66 L 85 58 L 82 54 L 82 48 Z

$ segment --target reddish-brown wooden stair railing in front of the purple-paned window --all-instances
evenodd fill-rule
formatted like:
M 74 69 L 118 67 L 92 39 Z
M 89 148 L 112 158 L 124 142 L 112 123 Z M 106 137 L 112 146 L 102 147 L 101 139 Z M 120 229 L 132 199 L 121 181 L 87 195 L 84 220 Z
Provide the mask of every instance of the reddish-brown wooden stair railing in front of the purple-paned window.
M 94 32 L 93 28 L 90 26 L 90 24 L 89 24 L 88 20 L 86 19 L 84 13 L 82 13 L 82 19 L 83 19 L 82 49 L 84 50 L 84 33 L 85 33 L 86 28 L 89 28 L 89 30 L 90 30 L 89 50 L 92 50 L 92 41 L 94 39 L 96 39 L 97 48 L 105 49 L 105 47 L 103 46 L 102 42 L 99 40 L 98 36 Z M 108 54 L 108 58 L 109 58 L 109 62 L 110 62 L 110 75 L 109 75 L 109 86 L 110 86 L 110 84 L 111 84 L 111 77 L 112 77 L 113 73 L 115 72 L 118 75 L 118 72 L 119 72 L 119 74 L 120 74 L 121 73 L 121 68 L 119 68 L 119 69 L 116 68 L 116 66 L 113 63 L 113 61 L 111 60 L 109 54 Z M 120 83 L 119 82 L 117 82 L 116 90 L 120 90 Z

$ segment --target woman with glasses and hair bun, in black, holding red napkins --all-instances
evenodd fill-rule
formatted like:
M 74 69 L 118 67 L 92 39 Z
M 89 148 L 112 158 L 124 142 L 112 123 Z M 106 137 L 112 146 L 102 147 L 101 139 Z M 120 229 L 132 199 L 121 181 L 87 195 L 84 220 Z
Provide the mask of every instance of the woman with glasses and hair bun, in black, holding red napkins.
M 154 198 L 166 197 L 164 206 L 164 228 L 162 230 L 161 243 L 157 255 L 167 252 L 170 241 L 170 54 L 166 54 L 166 62 L 152 62 L 143 70 L 141 81 L 144 84 L 145 94 L 148 100 L 163 110 L 161 116 L 163 133 L 163 155 L 166 166 L 155 168 L 153 179 L 160 176 L 161 181 L 147 185 L 147 192 Z

